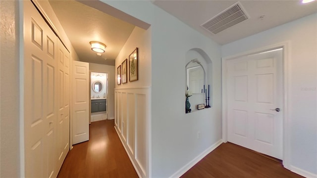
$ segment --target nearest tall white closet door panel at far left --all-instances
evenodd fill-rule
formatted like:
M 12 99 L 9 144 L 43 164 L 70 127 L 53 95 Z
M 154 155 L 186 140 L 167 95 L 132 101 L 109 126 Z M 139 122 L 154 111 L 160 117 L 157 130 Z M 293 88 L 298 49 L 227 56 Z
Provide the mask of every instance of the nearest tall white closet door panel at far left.
M 56 36 L 24 1 L 25 177 L 56 177 Z

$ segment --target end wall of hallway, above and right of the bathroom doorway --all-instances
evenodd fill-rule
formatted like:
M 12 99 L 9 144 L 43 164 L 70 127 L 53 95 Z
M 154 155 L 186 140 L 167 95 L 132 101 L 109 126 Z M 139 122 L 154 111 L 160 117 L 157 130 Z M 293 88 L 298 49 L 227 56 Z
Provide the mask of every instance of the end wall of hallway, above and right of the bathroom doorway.
M 108 74 L 107 119 L 114 119 L 114 87 L 116 82 L 116 80 L 114 79 L 114 66 L 89 63 L 89 71 Z M 104 93 L 101 93 L 100 96 L 103 97 Z

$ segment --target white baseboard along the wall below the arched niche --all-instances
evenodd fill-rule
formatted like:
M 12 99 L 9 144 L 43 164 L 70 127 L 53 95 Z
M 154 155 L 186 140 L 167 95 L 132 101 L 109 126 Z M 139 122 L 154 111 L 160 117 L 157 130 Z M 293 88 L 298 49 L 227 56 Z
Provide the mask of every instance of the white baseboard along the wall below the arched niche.
M 211 145 L 209 148 L 207 148 L 205 151 L 203 151 L 200 155 L 198 155 L 192 161 L 187 163 L 185 166 L 183 166 L 180 170 L 178 170 L 172 176 L 170 176 L 170 178 L 179 178 L 179 177 L 181 177 L 189 169 L 191 169 L 195 164 L 197 164 L 200 160 L 202 160 L 205 156 L 207 156 L 212 150 L 214 150 L 216 147 L 218 147 L 221 143 L 222 143 L 222 139 L 220 139 L 217 142 L 215 142 L 213 145 Z

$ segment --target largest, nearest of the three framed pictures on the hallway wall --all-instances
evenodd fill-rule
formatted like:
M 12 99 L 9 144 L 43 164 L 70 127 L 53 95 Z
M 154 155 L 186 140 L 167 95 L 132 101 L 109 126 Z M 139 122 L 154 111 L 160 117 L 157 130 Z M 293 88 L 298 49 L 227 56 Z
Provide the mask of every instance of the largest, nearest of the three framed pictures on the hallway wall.
M 129 55 L 129 82 L 137 81 L 139 68 L 139 49 L 136 48 L 134 51 Z

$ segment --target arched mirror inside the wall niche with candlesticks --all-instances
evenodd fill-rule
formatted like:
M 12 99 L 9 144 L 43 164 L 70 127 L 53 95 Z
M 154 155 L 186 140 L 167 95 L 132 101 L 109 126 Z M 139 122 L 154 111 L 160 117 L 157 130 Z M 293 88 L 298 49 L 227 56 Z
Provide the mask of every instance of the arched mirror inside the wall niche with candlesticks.
M 186 64 L 186 90 L 192 93 L 204 93 L 205 69 L 197 59 Z

